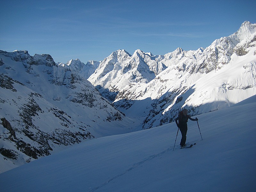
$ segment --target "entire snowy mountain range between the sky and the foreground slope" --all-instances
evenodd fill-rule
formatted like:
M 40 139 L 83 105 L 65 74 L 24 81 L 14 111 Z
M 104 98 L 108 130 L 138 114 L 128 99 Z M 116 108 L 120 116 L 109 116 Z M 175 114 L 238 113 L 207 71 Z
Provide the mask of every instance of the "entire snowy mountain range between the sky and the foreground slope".
M 2 172 L 83 140 L 171 123 L 180 108 L 195 116 L 256 95 L 256 24 L 196 51 L 119 49 L 86 64 L 0 51 L 0 68 Z

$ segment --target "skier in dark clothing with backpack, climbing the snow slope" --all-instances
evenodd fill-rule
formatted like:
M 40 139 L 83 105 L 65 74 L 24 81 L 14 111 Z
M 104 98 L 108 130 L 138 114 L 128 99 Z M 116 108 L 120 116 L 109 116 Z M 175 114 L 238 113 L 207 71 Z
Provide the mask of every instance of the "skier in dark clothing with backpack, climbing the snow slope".
M 180 111 L 179 116 L 175 119 L 175 122 L 177 124 L 177 126 L 180 129 L 181 132 L 181 140 L 180 140 L 180 147 L 183 148 L 185 147 L 185 143 L 186 143 L 186 139 L 187 139 L 187 131 L 188 131 L 188 119 L 192 120 L 192 121 L 197 121 L 198 119 L 195 118 L 191 118 L 188 114 L 188 110 L 187 109 L 183 109 L 182 111 Z M 179 120 L 179 123 L 178 123 Z

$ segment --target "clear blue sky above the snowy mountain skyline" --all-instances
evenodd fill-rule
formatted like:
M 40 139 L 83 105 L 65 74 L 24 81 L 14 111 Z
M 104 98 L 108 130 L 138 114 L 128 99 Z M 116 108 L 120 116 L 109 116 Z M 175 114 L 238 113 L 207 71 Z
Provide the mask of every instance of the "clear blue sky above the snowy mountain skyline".
M 2 0 L 0 50 L 50 54 L 55 62 L 103 60 L 118 49 L 197 50 L 256 23 L 256 1 Z

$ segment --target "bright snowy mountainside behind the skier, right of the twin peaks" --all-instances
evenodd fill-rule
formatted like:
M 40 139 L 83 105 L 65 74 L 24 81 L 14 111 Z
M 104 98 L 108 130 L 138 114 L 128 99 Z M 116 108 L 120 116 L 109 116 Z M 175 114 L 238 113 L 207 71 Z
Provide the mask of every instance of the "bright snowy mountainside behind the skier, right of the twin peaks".
M 178 48 L 164 55 L 159 62 L 168 68 L 147 84 L 124 87 L 115 106 L 127 116 L 142 106 L 140 116 L 146 116 L 143 128 L 147 129 L 172 122 L 181 107 L 196 115 L 255 95 L 255 26 L 244 22 L 236 33 L 215 40 L 206 49 Z

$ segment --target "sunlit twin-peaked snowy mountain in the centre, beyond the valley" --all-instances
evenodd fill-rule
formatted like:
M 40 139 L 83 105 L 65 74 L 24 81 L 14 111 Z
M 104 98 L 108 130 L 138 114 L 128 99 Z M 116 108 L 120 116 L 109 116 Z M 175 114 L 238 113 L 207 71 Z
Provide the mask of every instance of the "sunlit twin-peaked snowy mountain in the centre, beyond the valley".
M 132 83 L 148 83 L 166 69 L 166 66 L 157 60 L 157 56 L 139 49 L 133 55 L 125 50 L 118 50 L 101 61 L 88 80 L 97 87 L 103 97 L 113 102 L 124 87 Z

